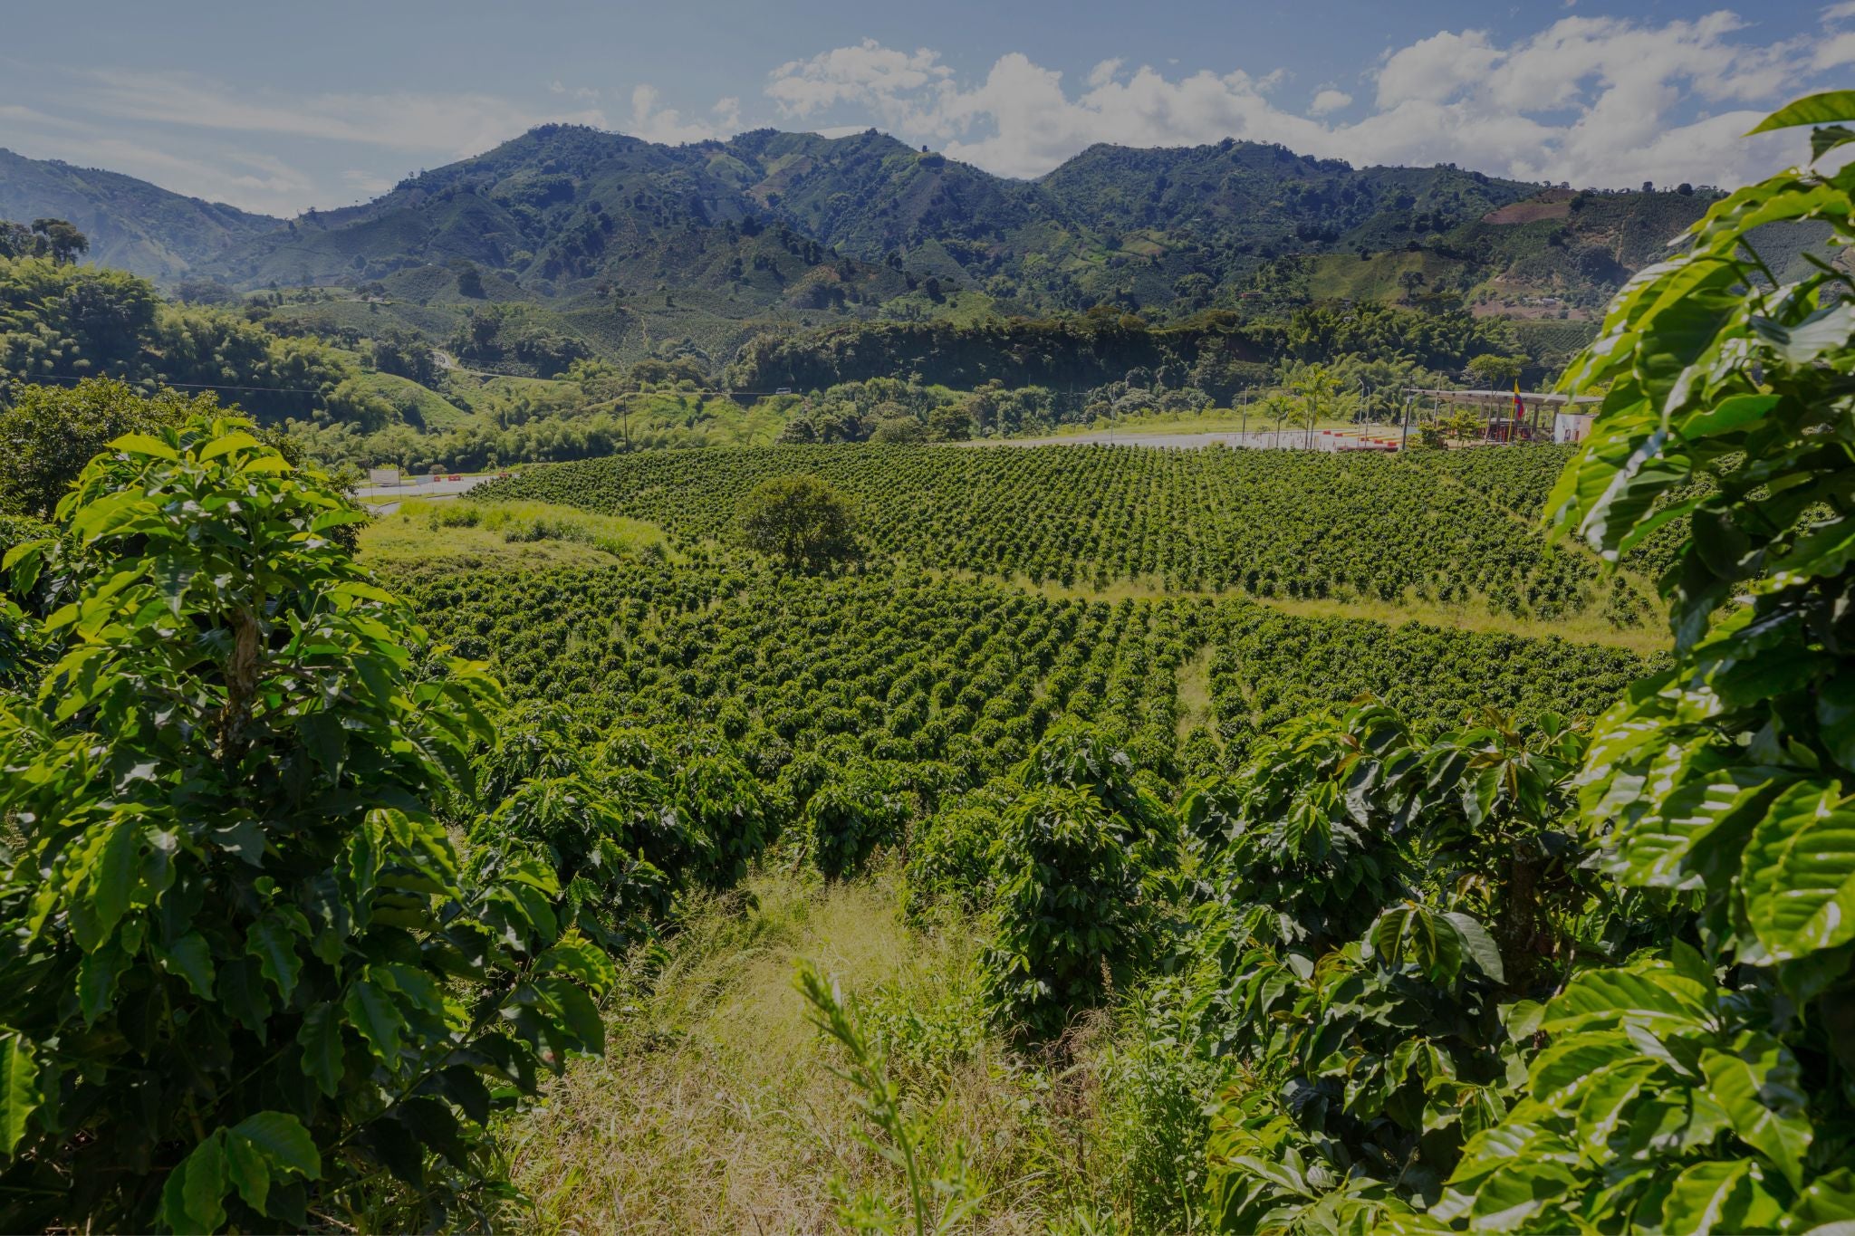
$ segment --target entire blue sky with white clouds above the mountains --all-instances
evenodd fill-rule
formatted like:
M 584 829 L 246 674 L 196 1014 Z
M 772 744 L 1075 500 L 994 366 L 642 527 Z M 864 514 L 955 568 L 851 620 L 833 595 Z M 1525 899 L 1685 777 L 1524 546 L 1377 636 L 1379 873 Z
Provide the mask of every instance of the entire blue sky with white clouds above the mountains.
M 1577 185 L 1738 183 L 1855 85 L 1855 0 L 7 6 L 0 146 L 249 209 L 384 191 L 542 120 L 876 126 L 1007 176 L 1094 141 L 1280 141 Z M 76 33 L 74 33 L 76 32 Z

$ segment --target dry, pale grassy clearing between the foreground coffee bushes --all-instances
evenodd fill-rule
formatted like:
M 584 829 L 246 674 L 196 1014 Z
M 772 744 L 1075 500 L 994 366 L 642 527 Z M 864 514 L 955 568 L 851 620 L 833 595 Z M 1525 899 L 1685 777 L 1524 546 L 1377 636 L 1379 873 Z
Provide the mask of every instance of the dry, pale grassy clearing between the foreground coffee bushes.
M 508 1127 L 534 1227 L 829 1232 L 846 1190 L 900 1201 L 792 986 L 800 958 L 859 997 L 913 1106 L 966 1147 L 987 1193 L 970 1230 L 1043 1232 L 1083 1201 L 1085 1071 L 1054 1080 L 1007 1051 L 979 1006 L 972 925 L 918 930 L 902 895 L 894 869 L 831 886 L 761 873 L 697 910 L 614 1003 L 607 1056 L 577 1060 Z

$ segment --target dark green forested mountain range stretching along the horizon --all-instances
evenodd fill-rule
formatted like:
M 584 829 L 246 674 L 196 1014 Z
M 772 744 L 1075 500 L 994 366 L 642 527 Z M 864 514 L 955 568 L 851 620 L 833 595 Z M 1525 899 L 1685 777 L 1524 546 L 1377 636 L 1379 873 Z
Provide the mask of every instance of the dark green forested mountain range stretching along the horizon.
M 889 300 L 881 269 L 903 272 L 905 289 L 933 278 L 1011 309 L 1139 309 L 1235 295 L 1282 261 L 1319 287 L 1336 258 L 1419 250 L 1458 263 L 1451 285 L 1469 293 L 1558 248 L 1562 261 L 1536 261 L 1516 287 L 1603 295 L 1707 202 L 1551 189 L 1447 165 L 1354 169 L 1245 141 L 1096 145 L 1046 176 L 1009 180 L 876 130 L 666 146 L 551 124 L 367 204 L 278 221 L 0 152 L 0 217 L 67 217 L 89 232 L 93 261 L 156 280 L 358 285 L 471 263 L 540 300 L 662 284 L 825 313 Z M 1534 209 L 1506 209 L 1523 202 Z

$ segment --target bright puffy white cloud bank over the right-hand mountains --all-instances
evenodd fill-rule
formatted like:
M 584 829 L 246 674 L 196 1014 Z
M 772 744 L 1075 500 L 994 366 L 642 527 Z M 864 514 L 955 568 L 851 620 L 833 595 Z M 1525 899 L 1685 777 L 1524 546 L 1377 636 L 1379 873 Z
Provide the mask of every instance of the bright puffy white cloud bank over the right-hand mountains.
M 1855 0 L 1825 19 L 1844 9 L 1855 17 Z M 1347 122 L 1328 119 L 1354 102 L 1337 87 L 1304 113 L 1276 106 L 1280 69 L 1169 74 L 1102 61 L 1076 89 L 1022 52 L 974 82 L 933 50 L 868 39 L 781 65 L 766 95 L 788 117 L 874 115 L 907 141 L 1009 176 L 1043 174 L 1093 143 L 1239 137 L 1362 165 L 1460 163 L 1580 185 L 1740 183 L 1803 150 L 1796 137 L 1742 133 L 1812 74 L 1855 63 L 1855 33 L 1753 35 L 1729 11 L 1660 24 L 1567 15 L 1506 44 L 1445 30 L 1386 54 L 1373 111 Z

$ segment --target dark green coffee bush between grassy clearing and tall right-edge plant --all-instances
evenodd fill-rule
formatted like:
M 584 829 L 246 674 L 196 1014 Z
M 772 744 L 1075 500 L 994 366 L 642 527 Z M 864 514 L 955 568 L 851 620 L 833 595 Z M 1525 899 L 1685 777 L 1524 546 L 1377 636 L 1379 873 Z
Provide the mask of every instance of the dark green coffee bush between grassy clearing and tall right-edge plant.
M 1363 704 L 1187 799 L 1211 847 L 1187 940 L 1211 977 L 1174 999 L 1204 1008 L 1200 1053 L 1234 1054 L 1221 1230 L 1408 1216 L 1508 1110 L 1534 1001 L 1634 923 L 1562 823 L 1580 750 L 1551 717 L 1426 739 Z

